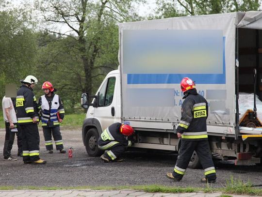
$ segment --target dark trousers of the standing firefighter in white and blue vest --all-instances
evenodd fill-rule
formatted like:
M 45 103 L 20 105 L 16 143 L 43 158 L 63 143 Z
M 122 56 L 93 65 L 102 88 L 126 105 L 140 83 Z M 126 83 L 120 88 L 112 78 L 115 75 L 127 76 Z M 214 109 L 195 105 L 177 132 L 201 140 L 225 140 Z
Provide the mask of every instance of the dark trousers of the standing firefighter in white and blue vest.
M 55 127 L 43 127 L 43 133 L 47 151 L 53 150 L 52 136 L 55 141 L 56 150 L 60 151 L 64 149 L 59 125 Z

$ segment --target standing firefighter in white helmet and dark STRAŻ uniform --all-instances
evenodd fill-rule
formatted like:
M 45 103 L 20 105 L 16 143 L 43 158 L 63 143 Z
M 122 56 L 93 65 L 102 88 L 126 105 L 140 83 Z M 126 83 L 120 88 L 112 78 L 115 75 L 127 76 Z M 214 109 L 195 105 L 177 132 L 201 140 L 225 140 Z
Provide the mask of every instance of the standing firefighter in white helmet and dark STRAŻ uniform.
M 39 157 L 39 132 L 37 123 L 36 98 L 33 88 L 37 84 L 34 76 L 27 76 L 20 80 L 22 86 L 17 91 L 16 110 L 17 122 L 22 133 L 22 150 L 24 164 L 46 164 L 45 160 Z

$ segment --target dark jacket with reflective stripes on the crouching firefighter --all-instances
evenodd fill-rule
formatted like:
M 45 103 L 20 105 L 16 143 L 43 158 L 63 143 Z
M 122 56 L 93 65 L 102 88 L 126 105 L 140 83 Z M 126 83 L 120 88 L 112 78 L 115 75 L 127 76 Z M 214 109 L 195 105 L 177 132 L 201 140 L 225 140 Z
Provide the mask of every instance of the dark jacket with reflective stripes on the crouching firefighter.
M 98 138 L 98 147 L 101 150 L 107 150 L 116 144 L 121 144 L 125 147 L 131 146 L 131 141 L 127 136 L 120 133 L 121 123 L 116 122 L 107 127 Z

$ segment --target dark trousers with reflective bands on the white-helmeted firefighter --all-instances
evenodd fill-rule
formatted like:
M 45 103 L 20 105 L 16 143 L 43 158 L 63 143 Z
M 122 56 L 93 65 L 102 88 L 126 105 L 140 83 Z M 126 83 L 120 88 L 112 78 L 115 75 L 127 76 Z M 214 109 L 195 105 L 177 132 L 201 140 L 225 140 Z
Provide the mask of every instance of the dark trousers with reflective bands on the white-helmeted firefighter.
M 22 133 L 23 161 L 39 160 L 39 132 L 37 123 L 19 124 Z

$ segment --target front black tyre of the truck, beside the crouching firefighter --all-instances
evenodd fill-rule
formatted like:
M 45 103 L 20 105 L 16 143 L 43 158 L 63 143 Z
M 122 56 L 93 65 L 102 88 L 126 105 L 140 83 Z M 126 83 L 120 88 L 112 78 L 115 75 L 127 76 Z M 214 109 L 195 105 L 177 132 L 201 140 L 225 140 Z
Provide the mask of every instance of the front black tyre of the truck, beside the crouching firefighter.
M 98 130 L 89 129 L 85 135 L 85 150 L 91 157 L 101 156 L 103 151 L 98 148 Z

